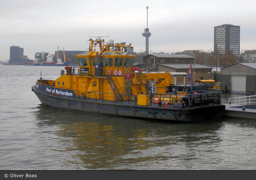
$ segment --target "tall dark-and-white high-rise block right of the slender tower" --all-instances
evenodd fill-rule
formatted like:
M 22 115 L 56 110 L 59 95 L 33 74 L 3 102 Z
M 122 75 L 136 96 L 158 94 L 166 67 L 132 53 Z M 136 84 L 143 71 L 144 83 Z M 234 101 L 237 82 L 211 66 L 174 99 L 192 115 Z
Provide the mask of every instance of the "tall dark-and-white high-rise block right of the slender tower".
M 234 54 L 240 54 L 240 26 L 223 24 L 214 27 L 214 51 L 233 50 Z

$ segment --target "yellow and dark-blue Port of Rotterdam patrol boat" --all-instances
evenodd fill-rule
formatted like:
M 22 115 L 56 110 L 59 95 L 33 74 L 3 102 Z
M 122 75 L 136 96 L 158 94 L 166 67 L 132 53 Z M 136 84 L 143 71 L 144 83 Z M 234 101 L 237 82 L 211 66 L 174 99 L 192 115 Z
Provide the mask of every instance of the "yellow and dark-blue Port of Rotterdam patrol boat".
M 32 91 L 43 105 L 114 116 L 196 122 L 222 117 L 221 92 L 167 93 L 178 73 L 148 73 L 132 66 L 131 44 L 89 39 L 77 55 L 79 66 L 66 66 L 56 80 L 38 79 Z M 187 73 L 181 73 L 185 78 Z M 154 81 L 156 93 L 150 92 Z

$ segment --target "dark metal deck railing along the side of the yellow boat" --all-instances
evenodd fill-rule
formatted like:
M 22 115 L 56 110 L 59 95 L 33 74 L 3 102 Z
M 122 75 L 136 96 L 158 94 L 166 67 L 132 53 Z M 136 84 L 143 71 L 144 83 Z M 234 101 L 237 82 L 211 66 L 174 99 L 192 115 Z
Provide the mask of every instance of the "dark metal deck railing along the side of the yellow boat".
M 119 98 L 121 96 L 121 99 Z M 146 95 L 149 106 L 165 108 L 191 108 L 198 106 L 219 105 L 221 104 L 221 92 L 197 91 L 196 94 L 154 94 Z M 158 103 L 155 103 L 155 98 Z M 102 101 L 110 103 L 126 102 L 129 105 L 138 105 L 138 95 L 132 94 L 112 94 L 104 92 L 83 92 L 80 99 L 87 101 Z M 180 105 L 178 105 L 180 104 Z M 177 106 L 178 105 L 178 106 Z

